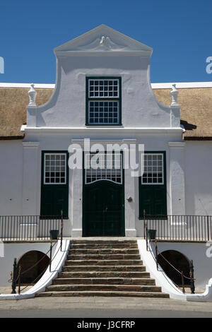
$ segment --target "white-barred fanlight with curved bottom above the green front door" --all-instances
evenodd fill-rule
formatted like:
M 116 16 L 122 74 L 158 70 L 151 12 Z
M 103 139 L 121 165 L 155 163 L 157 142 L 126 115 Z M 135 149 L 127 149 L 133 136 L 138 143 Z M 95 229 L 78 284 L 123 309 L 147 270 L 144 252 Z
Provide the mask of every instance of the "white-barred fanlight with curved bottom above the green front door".
M 86 153 L 85 183 L 109 180 L 122 184 L 122 154 L 121 153 Z

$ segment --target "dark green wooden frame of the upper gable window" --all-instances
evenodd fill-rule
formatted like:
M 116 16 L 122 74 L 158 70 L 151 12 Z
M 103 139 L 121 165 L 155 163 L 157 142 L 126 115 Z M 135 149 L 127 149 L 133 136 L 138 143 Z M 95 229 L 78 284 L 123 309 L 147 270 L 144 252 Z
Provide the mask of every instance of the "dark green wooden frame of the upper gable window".
M 90 79 L 98 79 L 98 80 L 110 80 L 110 79 L 118 79 L 119 80 L 119 97 L 97 97 L 97 98 L 89 98 L 88 97 L 88 80 Z M 90 124 L 88 122 L 88 102 L 89 101 L 118 101 L 119 102 L 119 122 L 117 124 Z M 88 76 L 86 77 L 86 126 L 121 126 L 122 125 L 122 77 L 117 76 Z

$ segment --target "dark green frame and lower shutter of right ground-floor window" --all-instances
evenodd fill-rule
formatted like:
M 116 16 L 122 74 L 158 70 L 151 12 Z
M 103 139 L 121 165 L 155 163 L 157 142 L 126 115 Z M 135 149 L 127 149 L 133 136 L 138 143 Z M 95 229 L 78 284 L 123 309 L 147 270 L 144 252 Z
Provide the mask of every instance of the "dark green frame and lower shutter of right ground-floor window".
M 146 153 L 163 153 L 164 184 L 141 184 L 139 177 L 139 218 L 146 215 L 167 215 L 167 184 L 165 151 L 145 151 Z M 148 218 L 148 216 L 147 216 Z

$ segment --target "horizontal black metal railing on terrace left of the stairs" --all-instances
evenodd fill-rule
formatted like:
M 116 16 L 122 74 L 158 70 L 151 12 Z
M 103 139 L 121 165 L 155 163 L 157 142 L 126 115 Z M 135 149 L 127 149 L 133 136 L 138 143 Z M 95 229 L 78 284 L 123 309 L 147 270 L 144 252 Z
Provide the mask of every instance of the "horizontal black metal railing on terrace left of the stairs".
M 48 240 L 50 231 L 61 230 L 61 215 L 1 215 L 0 240 Z

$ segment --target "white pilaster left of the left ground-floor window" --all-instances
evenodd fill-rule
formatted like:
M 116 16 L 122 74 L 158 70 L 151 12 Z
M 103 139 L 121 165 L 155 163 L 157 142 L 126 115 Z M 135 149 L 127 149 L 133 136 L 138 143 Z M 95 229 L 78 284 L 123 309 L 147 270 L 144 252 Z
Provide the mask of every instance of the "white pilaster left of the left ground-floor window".
M 37 211 L 39 142 L 23 142 L 23 203 L 22 215 L 39 215 Z

